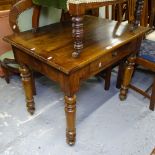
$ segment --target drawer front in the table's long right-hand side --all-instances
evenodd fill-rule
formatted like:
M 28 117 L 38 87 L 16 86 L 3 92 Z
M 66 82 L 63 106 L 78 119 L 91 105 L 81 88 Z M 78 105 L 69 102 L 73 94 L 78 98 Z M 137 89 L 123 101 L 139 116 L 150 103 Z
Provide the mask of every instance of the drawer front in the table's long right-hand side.
M 97 74 L 105 68 L 119 62 L 131 53 L 136 52 L 136 43 L 130 42 L 116 50 L 108 51 L 104 56 L 90 64 L 90 74 Z

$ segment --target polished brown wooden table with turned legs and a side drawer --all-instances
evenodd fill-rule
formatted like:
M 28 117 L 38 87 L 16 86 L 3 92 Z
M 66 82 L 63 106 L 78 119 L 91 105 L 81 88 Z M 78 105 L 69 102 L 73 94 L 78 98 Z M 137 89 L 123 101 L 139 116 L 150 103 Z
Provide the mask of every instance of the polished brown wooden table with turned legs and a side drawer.
M 83 22 L 85 46 L 76 59 L 72 58 L 71 22 L 56 23 L 38 28 L 36 32 L 30 30 L 5 37 L 13 46 L 16 61 L 22 67 L 21 75 L 29 112 L 34 112 L 29 69 L 41 72 L 60 84 L 65 96 L 66 137 L 70 145 L 75 143 L 76 93 L 81 81 L 131 54 L 136 54 L 146 32 L 143 27 L 131 32 L 129 24 L 90 16 L 85 16 Z

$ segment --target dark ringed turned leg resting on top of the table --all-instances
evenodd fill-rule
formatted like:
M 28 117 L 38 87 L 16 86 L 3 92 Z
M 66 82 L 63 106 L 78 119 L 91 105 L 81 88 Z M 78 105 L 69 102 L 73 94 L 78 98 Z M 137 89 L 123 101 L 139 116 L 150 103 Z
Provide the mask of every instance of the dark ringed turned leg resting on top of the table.
M 72 17 L 72 35 L 74 38 L 74 52 L 72 57 L 76 58 L 83 49 L 83 17 Z

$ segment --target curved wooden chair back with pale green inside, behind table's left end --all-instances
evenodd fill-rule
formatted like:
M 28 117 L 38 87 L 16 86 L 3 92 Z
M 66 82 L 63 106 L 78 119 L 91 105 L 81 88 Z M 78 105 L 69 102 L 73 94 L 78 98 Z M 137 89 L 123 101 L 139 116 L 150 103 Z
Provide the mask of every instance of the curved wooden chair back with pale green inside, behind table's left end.
M 20 0 L 10 10 L 10 26 L 14 32 L 26 31 L 60 21 L 61 10 L 39 7 L 32 0 Z

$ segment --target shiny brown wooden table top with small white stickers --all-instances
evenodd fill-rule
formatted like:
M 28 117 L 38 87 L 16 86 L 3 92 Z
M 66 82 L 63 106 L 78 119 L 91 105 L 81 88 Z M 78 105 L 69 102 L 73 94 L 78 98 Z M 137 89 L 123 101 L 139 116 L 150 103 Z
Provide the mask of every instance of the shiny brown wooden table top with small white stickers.
M 78 58 L 72 58 L 73 40 L 70 22 L 56 23 L 5 37 L 4 40 L 21 51 L 69 74 L 103 57 L 105 53 L 143 35 L 146 28 L 131 32 L 127 23 L 86 16 L 84 18 L 84 49 Z

